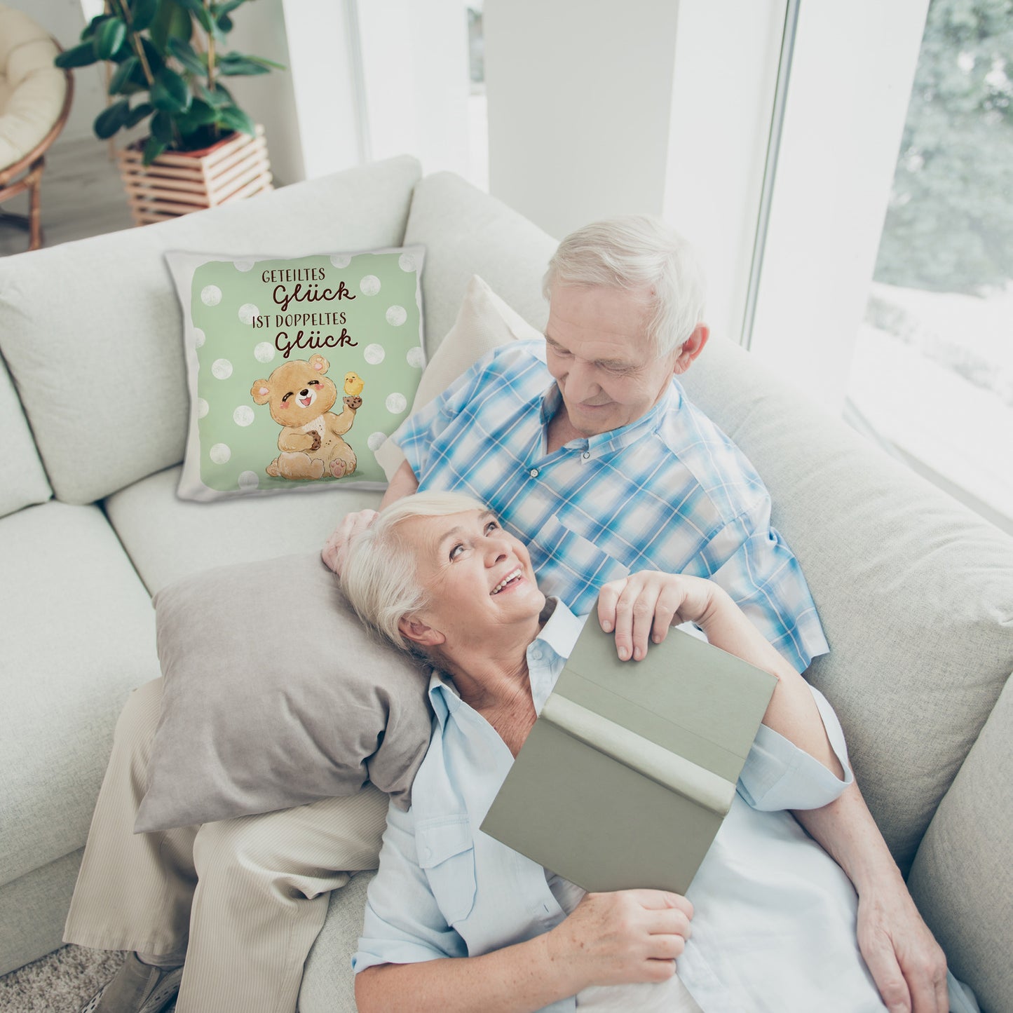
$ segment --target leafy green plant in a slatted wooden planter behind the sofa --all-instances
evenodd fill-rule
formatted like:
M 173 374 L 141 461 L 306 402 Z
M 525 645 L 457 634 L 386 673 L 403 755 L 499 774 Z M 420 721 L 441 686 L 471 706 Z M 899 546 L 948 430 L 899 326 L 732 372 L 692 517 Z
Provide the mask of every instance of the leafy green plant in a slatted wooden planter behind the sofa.
M 281 64 L 229 51 L 232 14 L 246 0 L 106 0 L 59 67 L 109 65 L 110 104 L 95 134 L 110 138 L 148 122 L 148 137 L 119 152 L 138 224 L 161 221 L 270 189 L 263 129 L 223 79 Z

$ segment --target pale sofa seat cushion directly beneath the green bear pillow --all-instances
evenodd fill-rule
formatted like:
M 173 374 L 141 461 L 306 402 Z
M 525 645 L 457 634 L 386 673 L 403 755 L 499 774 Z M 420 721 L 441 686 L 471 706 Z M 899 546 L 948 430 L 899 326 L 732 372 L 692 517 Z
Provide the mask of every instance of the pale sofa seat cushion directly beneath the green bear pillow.
M 160 471 L 104 503 L 152 595 L 211 566 L 319 552 L 345 514 L 380 504 L 379 492 L 343 488 L 305 496 L 189 502 L 175 495 L 179 471 Z

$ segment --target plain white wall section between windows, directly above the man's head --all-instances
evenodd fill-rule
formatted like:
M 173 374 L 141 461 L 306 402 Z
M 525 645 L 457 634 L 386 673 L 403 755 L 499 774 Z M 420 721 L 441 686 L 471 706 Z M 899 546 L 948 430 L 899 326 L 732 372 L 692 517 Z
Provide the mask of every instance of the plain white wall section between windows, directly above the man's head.
M 489 191 L 555 236 L 659 214 L 679 4 L 486 0 Z

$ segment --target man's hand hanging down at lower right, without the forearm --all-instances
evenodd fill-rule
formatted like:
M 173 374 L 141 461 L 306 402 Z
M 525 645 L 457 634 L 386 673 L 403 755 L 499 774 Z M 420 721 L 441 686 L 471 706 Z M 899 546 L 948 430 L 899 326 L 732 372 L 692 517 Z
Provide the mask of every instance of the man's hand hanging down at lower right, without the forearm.
M 948 1013 L 946 956 L 903 883 L 859 897 L 858 945 L 890 1013 Z

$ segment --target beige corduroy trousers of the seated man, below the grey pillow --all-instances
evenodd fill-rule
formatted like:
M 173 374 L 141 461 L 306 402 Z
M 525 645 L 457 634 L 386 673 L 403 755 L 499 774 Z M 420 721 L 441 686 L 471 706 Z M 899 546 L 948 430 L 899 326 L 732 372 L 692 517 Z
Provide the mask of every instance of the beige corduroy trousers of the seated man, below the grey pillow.
M 134 834 L 161 697 L 156 679 L 120 716 L 64 940 L 185 950 L 177 1013 L 293 1013 L 328 892 L 377 867 L 387 796 Z

